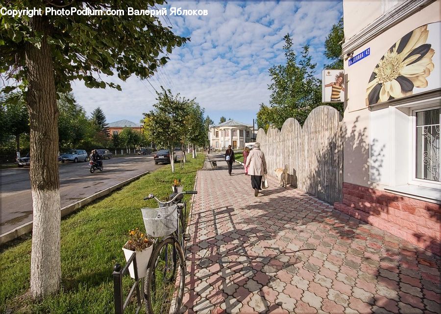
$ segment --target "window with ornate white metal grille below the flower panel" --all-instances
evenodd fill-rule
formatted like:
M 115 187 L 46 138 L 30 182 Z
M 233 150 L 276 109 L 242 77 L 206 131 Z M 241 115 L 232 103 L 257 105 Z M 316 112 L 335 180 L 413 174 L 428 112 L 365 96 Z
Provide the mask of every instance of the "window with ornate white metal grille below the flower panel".
M 441 109 L 416 111 L 415 178 L 441 182 Z

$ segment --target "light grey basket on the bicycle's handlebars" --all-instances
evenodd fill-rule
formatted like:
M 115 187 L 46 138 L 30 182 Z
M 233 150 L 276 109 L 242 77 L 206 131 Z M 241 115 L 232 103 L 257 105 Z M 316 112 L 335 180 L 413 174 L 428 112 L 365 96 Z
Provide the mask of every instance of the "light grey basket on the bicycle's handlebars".
M 177 205 L 160 208 L 141 208 L 146 233 L 152 237 L 165 237 L 177 229 Z

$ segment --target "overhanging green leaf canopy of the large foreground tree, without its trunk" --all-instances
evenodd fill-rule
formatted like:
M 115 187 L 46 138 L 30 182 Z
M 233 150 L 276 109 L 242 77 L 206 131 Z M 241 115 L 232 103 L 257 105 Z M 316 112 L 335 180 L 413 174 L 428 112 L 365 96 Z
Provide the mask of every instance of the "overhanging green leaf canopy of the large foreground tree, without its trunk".
M 163 0 L 103 0 L 72 1 L 77 9 L 89 8 L 151 8 Z M 8 9 L 41 8 L 41 0 L 3 1 Z M 71 81 L 82 80 L 87 87 L 121 90 L 119 85 L 104 82 L 96 73 L 113 75 L 122 80 L 132 74 L 147 78 L 164 65 L 172 48 L 181 46 L 182 38 L 164 27 L 159 18 L 150 15 L 60 15 L 34 17 L 46 24 L 45 34 L 30 27 L 28 17 L 0 17 L 0 73 L 20 82 L 24 89 L 28 68 L 25 67 L 25 46 L 37 48 L 47 41 L 51 49 L 53 72 L 58 92 L 71 91 Z M 13 89 L 8 87 L 6 90 Z

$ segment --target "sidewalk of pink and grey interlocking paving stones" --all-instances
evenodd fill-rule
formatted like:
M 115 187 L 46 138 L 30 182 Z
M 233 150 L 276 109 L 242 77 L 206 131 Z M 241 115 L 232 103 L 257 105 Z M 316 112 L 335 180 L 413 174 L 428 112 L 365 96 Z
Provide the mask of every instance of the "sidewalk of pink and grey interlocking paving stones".
M 189 314 L 441 312 L 440 257 L 272 178 L 255 197 L 241 166 L 229 176 L 209 158 L 189 222 Z

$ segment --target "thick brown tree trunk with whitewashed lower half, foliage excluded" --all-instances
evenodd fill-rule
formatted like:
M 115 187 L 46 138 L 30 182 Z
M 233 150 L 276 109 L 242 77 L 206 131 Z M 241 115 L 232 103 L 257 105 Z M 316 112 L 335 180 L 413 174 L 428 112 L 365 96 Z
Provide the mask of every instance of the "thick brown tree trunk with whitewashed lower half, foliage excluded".
M 34 299 L 56 293 L 61 281 L 60 180 L 58 177 L 58 109 L 52 55 L 47 43 L 49 21 L 34 16 L 35 31 L 45 34 L 40 49 L 26 44 L 30 121 L 30 182 L 33 206 L 30 291 Z

